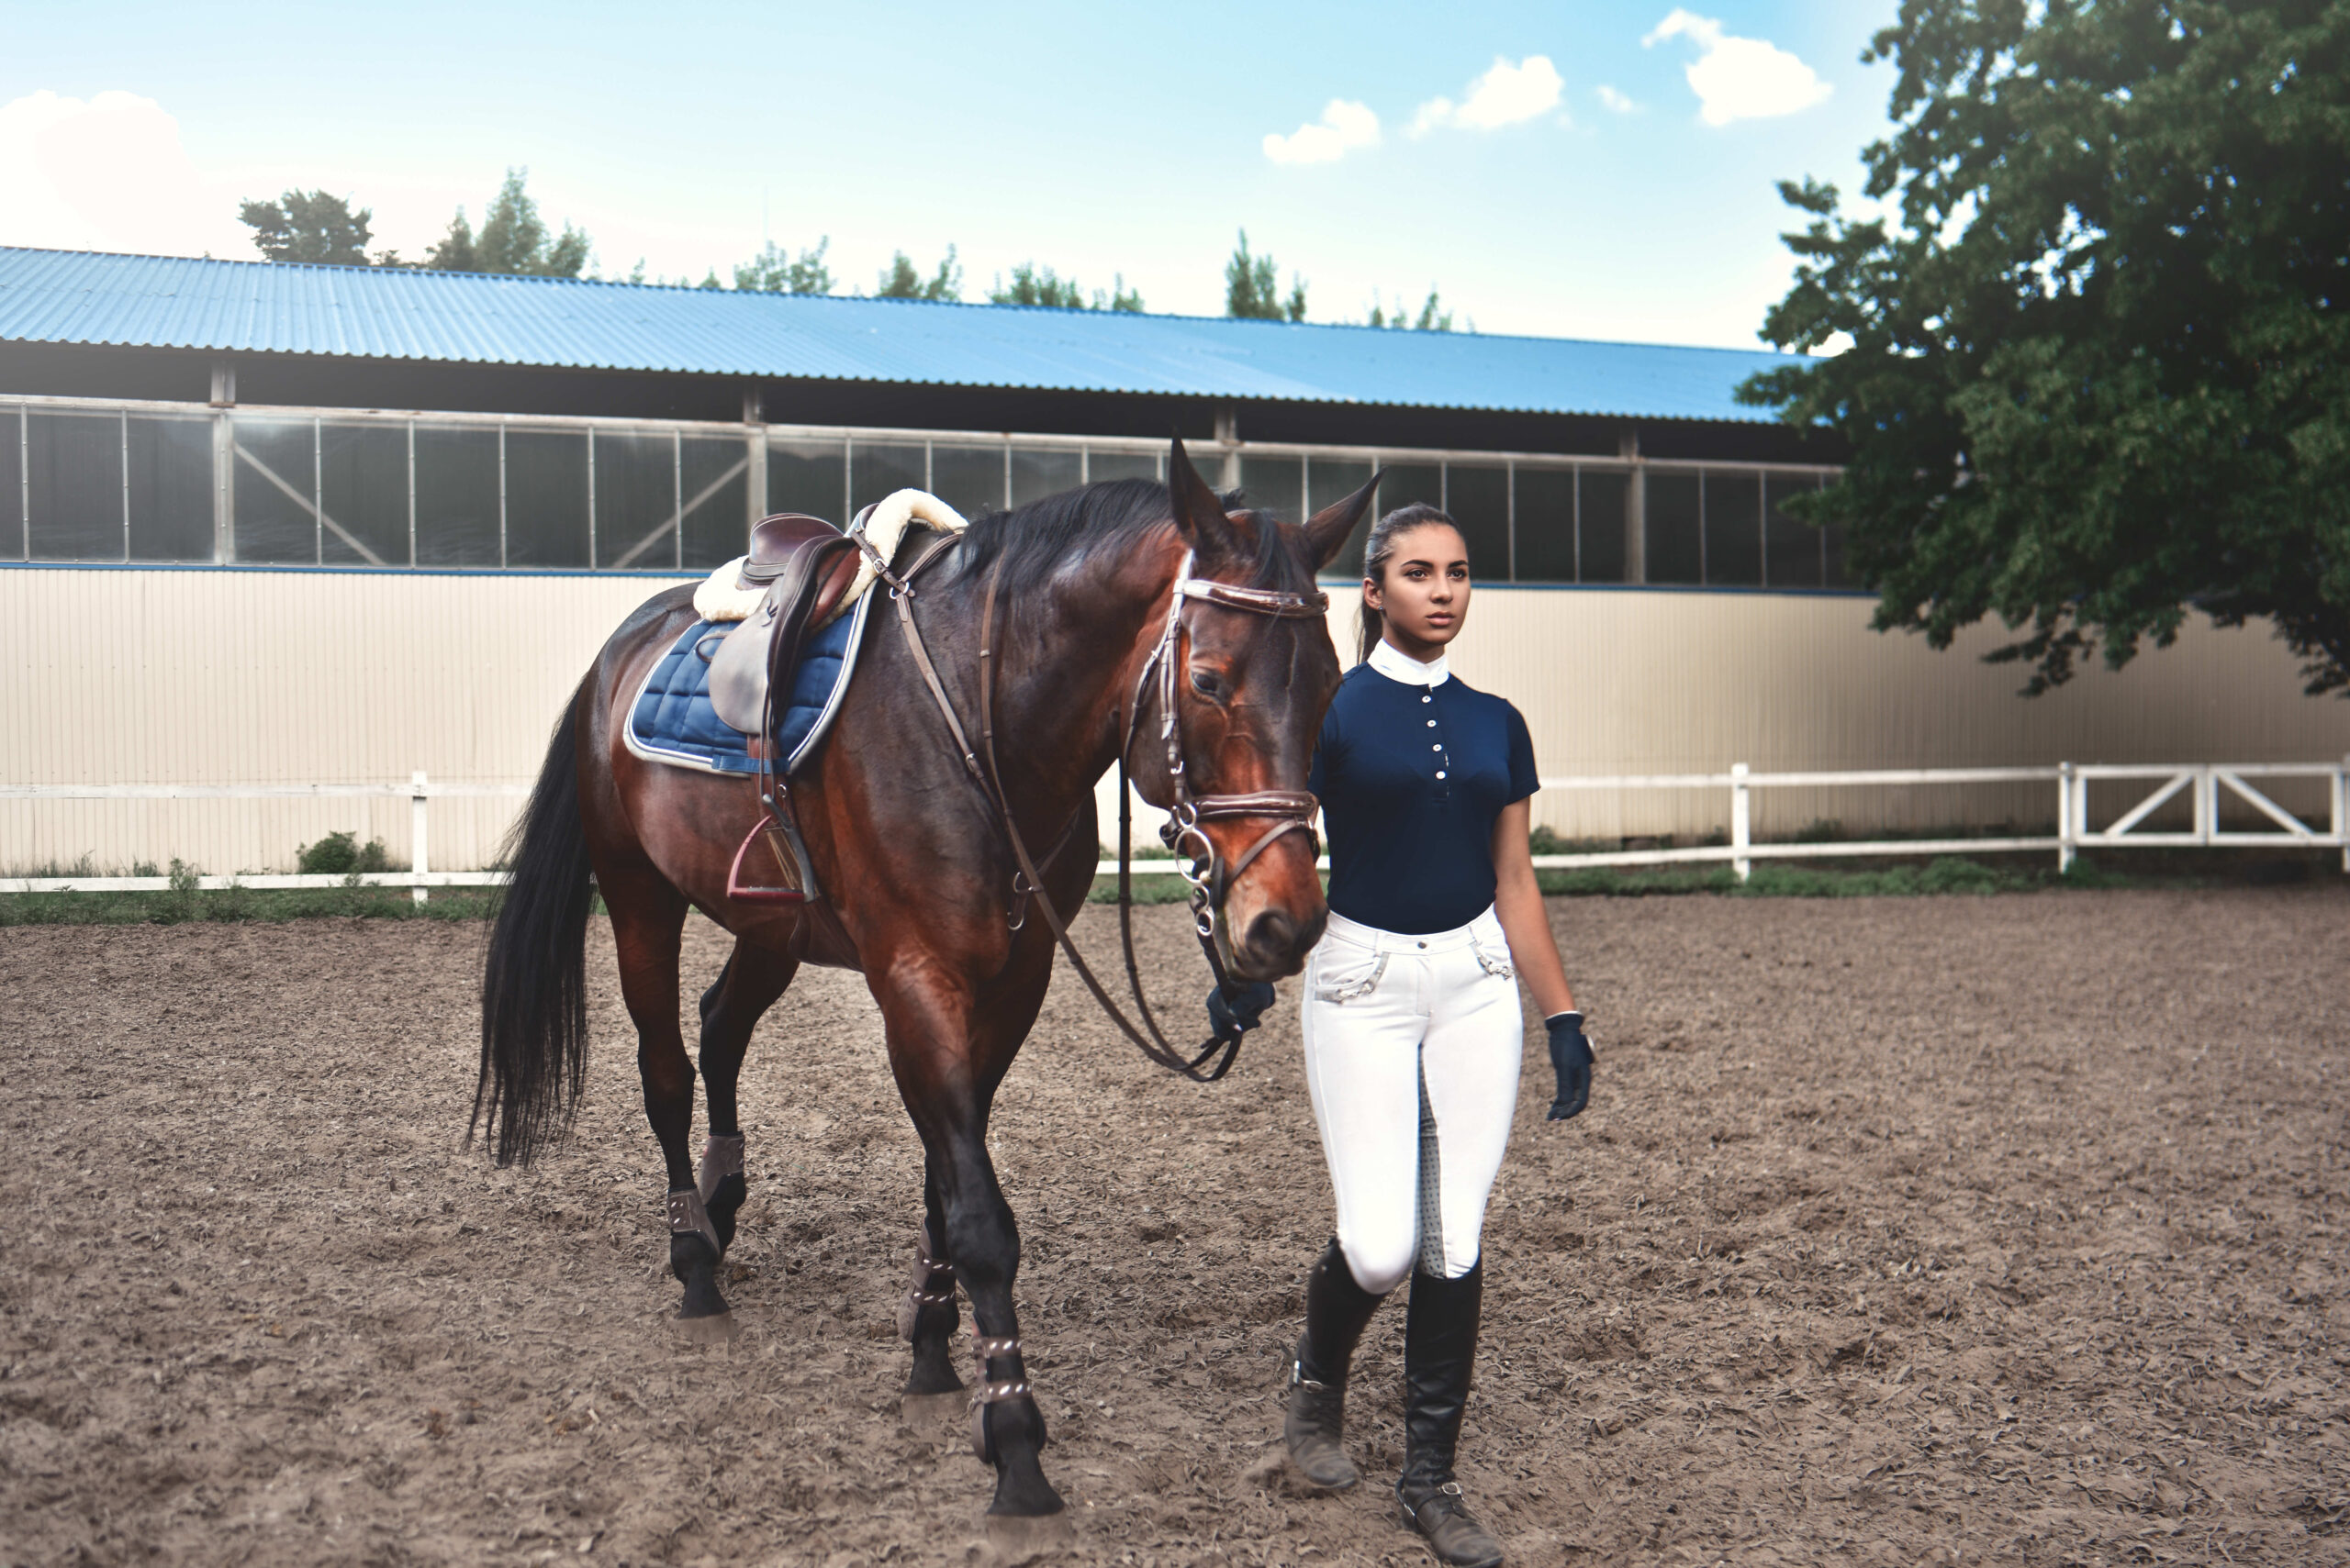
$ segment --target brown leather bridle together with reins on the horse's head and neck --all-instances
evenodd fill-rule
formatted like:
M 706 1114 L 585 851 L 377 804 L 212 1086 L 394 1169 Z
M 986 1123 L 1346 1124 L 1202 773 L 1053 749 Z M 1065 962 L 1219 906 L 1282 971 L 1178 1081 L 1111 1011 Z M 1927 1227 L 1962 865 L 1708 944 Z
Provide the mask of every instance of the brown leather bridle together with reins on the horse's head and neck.
M 933 545 L 914 566 L 905 570 L 902 577 L 891 580 L 891 601 L 898 606 L 898 624 L 905 629 L 907 648 L 914 653 L 914 664 L 921 669 L 924 685 L 931 688 L 931 699 L 947 721 L 947 732 L 954 735 L 954 746 L 964 758 L 964 770 L 971 772 L 980 793 L 996 807 L 1003 819 L 1003 836 L 1010 843 L 1013 861 L 1018 871 L 1013 873 L 1013 894 L 1018 899 L 1034 897 L 1043 908 L 1046 925 L 1053 927 L 1053 937 L 1060 941 L 1060 951 L 1069 955 L 1069 965 L 1076 969 L 1079 979 L 1086 981 L 1086 991 L 1093 1000 L 1102 1005 L 1102 1012 L 1119 1026 L 1135 1047 L 1149 1056 L 1161 1068 L 1170 1073 L 1182 1073 L 1194 1082 L 1215 1082 L 1231 1070 L 1238 1059 L 1241 1038 L 1229 1040 L 1210 1038 L 1196 1049 L 1182 1049 L 1173 1045 L 1159 1028 L 1159 1019 L 1152 1016 L 1152 1005 L 1142 995 L 1142 969 L 1135 958 L 1135 932 L 1133 932 L 1133 789 L 1128 786 L 1128 751 L 1133 751 L 1135 739 L 1142 732 L 1142 704 L 1152 690 L 1152 676 L 1156 676 L 1159 697 L 1159 739 L 1166 746 L 1168 782 L 1175 800 L 1163 805 L 1168 812 L 1168 824 L 1161 829 L 1161 838 L 1170 850 L 1175 850 L 1182 861 L 1180 871 L 1184 883 L 1191 887 L 1191 930 L 1198 937 L 1201 951 L 1208 955 L 1208 967 L 1215 974 L 1215 984 L 1222 988 L 1229 984 L 1224 974 L 1224 960 L 1217 953 L 1217 908 L 1231 883 L 1255 864 L 1276 840 L 1285 833 L 1304 833 L 1314 838 L 1314 815 L 1321 803 L 1300 789 L 1260 789 L 1253 793 L 1231 796 L 1201 796 L 1191 791 L 1184 777 L 1182 756 L 1182 702 L 1177 690 L 1177 638 L 1187 634 L 1184 610 L 1191 603 L 1222 606 L 1227 610 L 1241 610 L 1246 615 L 1271 615 L 1290 620 L 1318 620 L 1328 606 L 1328 594 L 1290 594 L 1278 589 L 1253 589 L 1236 587 L 1231 582 L 1215 582 L 1210 577 L 1194 577 L 1194 552 L 1184 552 L 1182 566 L 1175 568 L 1175 584 L 1168 599 L 1166 624 L 1159 631 L 1159 641 L 1152 655 L 1142 662 L 1142 674 L 1135 678 L 1135 695 L 1128 704 L 1126 725 L 1119 737 L 1119 941 L 1126 948 L 1126 984 L 1135 1000 L 1135 1012 L 1142 1023 L 1135 1026 L 1133 1019 L 1112 1000 L 1109 991 L 1095 979 L 1093 967 L 1069 941 L 1069 925 L 1053 908 L 1053 899 L 1043 892 L 1043 876 L 1036 871 L 1036 861 L 1029 857 L 1027 840 L 1020 836 L 1020 824 L 1013 819 L 1010 796 L 1003 791 L 1003 775 L 996 768 L 996 725 L 994 725 L 994 627 L 996 627 L 996 589 L 1003 575 L 1003 556 L 996 556 L 994 568 L 987 573 L 987 596 L 980 610 L 980 742 L 971 744 L 964 730 L 964 721 L 954 711 L 954 702 L 947 697 L 945 683 L 938 678 L 938 667 L 931 662 L 931 650 L 921 641 L 921 629 L 914 624 L 914 575 L 921 573 L 942 549 L 954 540 L 940 540 Z M 1152 800 L 1152 805 L 1159 805 Z M 1248 850 L 1236 859 L 1224 861 L 1217 852 L 1215 840 L 1201 829 L 1203 822 L 1227 822 L 1227 819 L 1271 819 L 1271 826 L 1255 838 Z M 1074 822 L 1072 822 L 1074 829 Z M 1065 829 L 1060 843 L 1046 852 L 1053 859 L 1067 843 L 1069 831 Z M 1025 915 L 1022 915 L 1025 918 Z M 1013 930 L 1020 930 L 1022 918 L 1013 920 Z M 1208 1066 L 1213 1061 L 1213 1066 Z

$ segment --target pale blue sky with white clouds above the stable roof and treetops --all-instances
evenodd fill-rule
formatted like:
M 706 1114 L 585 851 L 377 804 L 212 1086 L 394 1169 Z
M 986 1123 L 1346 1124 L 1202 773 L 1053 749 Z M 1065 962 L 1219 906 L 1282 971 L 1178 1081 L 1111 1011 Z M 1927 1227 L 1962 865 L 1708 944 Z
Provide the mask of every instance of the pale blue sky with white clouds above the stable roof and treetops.
M 1222 312 L 1438 286 L 1483 331 L 1753 345 L 1774 181 L 1856 185 L 1894 0 L 1812 5 L 54 5 L 0 0 L 0 244 L 251 256 L 324 185 L 416 256 L 508 164 L 604 275 L 959 246 Z M 1304 127 L 1318 127 L 1300 136 Z

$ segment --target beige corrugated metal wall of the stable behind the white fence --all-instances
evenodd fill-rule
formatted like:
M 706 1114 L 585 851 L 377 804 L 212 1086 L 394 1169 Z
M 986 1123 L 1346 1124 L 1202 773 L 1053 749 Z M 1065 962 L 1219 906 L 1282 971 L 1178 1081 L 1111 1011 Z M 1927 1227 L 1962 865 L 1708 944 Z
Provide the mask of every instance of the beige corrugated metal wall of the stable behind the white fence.
M 531 779 L 545 735 L 644 577 L 0 570 L 0 779 L 329 784 Z M 1351 594 L 1332 634 L 1351 648 Z M 1478 589 L 1459 676 L 1516 702 L 1551 775 L 1998 763 L 2324 761 L 2350 704 L 2298 695 L 2261 629 L 2197 624 L 2122 674 L 2026 702 L 2014 667 L 1868 631 L 1868 601 Z M 926 711 L 926 709 L 924 709 Z M 510 800 L 439 800 L 432 864 L 496 854 Z M 1765 793 L 1760 836 L 2054 819 L 2054 789 Z M 1549 793 L 1570 838 L 1704 836 L 1725 793 Z M 1104 829 L 1112 817 L 1104 817 Z M 0 869 L 186 859 L 289 871 L 350 829 L 409 857 L 407 800 L 0 803 Z

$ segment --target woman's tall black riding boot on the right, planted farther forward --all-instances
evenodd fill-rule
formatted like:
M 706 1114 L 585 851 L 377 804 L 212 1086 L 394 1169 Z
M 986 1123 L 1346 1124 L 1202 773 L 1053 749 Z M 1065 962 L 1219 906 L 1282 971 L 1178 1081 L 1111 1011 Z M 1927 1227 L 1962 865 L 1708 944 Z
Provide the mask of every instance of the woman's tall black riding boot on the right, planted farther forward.
M 1396 1498 L 1405 1521 L 1455 1568 L 1492 1568 L 1502 1561 L 1502 1545 L 1476 1521 L 1452 1479 L 1483 1298 L 1483 1261 L 1459 1279 L 1415 1270 L 1410 1317 L 1403 1324 L 1403 1479 L 1396 1481 Z

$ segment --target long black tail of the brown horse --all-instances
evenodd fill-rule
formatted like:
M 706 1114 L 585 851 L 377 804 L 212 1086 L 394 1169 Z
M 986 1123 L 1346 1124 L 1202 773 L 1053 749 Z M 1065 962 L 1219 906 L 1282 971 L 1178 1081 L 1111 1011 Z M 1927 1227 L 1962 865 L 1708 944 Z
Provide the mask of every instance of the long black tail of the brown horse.
M 571 1131 L 588 1077 L 588 906 L 578 702 L 548 742 L 548 765 L 505 845 L 512 880 L 482 965 L 482 1077 L 465 1141 L 489 1115 L 498 1164 L 529 1164 Z

